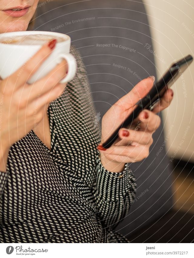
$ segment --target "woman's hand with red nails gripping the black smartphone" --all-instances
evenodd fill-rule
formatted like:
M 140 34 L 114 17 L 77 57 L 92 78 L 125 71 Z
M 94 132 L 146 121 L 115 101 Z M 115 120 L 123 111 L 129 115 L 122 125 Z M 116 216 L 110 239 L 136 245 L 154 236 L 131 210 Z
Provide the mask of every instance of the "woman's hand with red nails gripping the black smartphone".
M 106 112 L 102 118 L 101 144 L 133 112 L 135 104 L 148 94 L 153 86 L 153 80 L 154 78 L 148 77 L 140 81 Z M 152 111 L 145 109 L 139 114 L 138 119 L 141 121 L 139 130 L 122 128 L 119 131 L 119 138 L 110 148 L 103 150 L 101 145 L 98 146 L 101 162 L 105 169 L 111 172 L 121 172 L 125 163 L 137 162 L 148 157 L 149 147 L 153 143 L 152 134 L 158 129 L 161 122 L 156 113 L 167 108 L 172 98 L 173 91 L 168 89 Z

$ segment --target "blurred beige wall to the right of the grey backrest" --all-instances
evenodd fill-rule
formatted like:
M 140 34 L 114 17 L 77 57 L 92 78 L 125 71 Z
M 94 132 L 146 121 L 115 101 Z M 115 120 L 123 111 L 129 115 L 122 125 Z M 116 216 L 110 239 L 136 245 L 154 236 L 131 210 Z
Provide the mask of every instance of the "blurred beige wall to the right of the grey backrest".
M 174 59 L 187 54 L 194 56 L 194 1 L 144 0 L 144 3 L 160 77 Z M 194 61 L 183 77 L 172 86 L 174 99 L 162 113 L 165 145 L 170 157 L 194 161 Z

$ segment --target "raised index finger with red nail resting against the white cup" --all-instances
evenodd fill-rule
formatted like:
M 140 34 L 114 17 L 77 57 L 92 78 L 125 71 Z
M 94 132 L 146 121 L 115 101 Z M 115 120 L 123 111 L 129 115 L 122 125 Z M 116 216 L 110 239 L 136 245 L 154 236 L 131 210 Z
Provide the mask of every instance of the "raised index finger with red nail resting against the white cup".
M 8 82 L 16 88 L 24 85 L 52 53 L 56 43 L 57 40 L 54 39 L 44 44 L 22 67 L 8 77 Z

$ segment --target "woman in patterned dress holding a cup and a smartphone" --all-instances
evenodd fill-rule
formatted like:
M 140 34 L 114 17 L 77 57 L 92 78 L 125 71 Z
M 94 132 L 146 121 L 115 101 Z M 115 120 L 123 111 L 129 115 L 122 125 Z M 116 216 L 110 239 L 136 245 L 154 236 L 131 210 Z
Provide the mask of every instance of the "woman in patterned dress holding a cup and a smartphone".
M 27 30 L 37 5 L 38 0 L 2 0 L 0 33 Z M 17 8 L 27 9 L 16 17 L 12 13 Z M 119 99 L 102 118 L 101 130 L 75 47 L 71 53 L 78 69 L 71 82 L 59 83 L 68 70 L 63 61 L 43 79 L 27 84 L 55 45 L 53 40 L 43 46 L 19 69 L 19 77 L 16 71 L 0 81 L 0 241 L 127 243 L 114 229 L 135 197 L 128 163 L 148 156 L 160 124 L 156 113 L 170 104 L 173 92 L 168 89 L 152 112 L 139 114 L 139 131 L 122 128 L 119 140 L 103 150 L 99 143 L 132 112 L 154 78 L 140 81 Z

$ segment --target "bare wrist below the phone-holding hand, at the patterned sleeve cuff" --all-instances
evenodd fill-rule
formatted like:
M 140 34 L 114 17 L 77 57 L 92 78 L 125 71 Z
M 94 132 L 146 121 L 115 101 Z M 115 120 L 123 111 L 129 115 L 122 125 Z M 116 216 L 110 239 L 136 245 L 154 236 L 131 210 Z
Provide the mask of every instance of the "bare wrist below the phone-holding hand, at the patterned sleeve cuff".
M 102 166 L 109 172 L 120 173 L 125 169 L 125 163 L 119 163 L 117 161 L 111 161 L 105 157 L 105 153 L 100 153 L 100 159 Z

